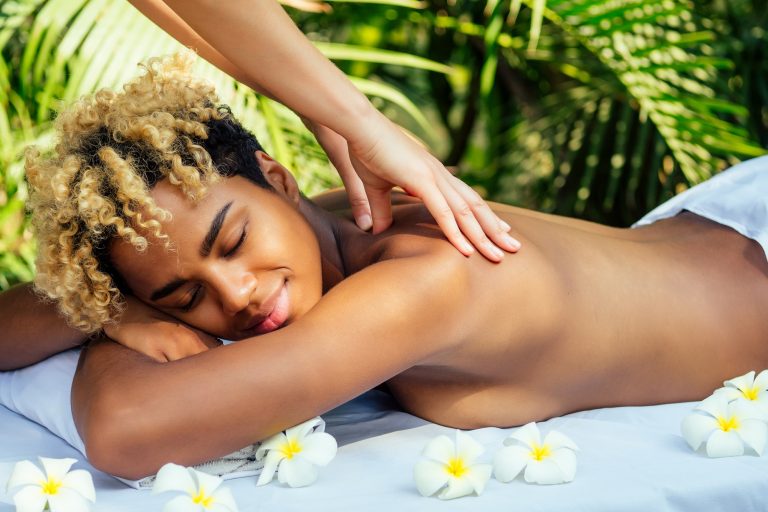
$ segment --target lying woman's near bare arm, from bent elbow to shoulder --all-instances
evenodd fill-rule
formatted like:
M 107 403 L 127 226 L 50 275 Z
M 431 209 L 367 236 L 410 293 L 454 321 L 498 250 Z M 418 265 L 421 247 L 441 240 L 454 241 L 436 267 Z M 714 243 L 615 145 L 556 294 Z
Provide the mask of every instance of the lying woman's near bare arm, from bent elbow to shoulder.
M 449 349 L 469 282 L 464 258 L 445 248 L 377 263 L 294 324 L 179 361 L 91 346 L 72 394 L 91 463 L 137 478 L 218 457 Z

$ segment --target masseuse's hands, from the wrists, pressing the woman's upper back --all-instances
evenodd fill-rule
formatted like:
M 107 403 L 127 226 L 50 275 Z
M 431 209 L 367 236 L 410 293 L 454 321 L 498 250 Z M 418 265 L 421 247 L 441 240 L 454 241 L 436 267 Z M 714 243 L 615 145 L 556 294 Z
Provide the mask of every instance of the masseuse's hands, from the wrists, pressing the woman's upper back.
M 371 216 L 374 234 L 389 227 L 390 191 L 400 186 L 424 202 L 445 236 L 463 254 L 471 254 L 474 245 L 489 260 L 500 261 L 503 252 L 499 248 L 508 252 L 520 248 L 509 235 L 509 226 L 472 187 L 451 175 L 378 111 L 372 119 L 354 141 L 305 121 L 339 171 L 352 213 L 362 229 L 371 226 Z

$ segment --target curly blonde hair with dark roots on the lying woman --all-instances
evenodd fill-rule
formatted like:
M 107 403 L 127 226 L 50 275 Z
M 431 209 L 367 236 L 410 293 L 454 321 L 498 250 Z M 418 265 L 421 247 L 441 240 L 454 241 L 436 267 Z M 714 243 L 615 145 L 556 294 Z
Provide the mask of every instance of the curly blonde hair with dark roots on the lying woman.
M 120 237 L 138 251 L 167 245 L 171 215 L 150 190 L 167 178 L 199 200 L 219 175 L 242 174 L 269 188 L 255 137 L 218 105 L 214 88 L 190 75 L 194 54 L 153 58 L 122 92 L 101 90 L 61 112 L 55 154 L 26 153 L 38 236 L 35 288 L 74 327 L 115 322 L 129 290 L 109 261 Z

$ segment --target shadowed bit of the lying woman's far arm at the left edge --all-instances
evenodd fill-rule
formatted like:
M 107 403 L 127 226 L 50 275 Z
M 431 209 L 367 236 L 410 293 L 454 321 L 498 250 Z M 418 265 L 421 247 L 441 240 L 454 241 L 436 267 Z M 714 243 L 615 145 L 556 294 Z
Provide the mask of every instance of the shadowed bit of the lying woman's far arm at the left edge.
M 0 293 L 0 371 L 13 370 L 75 347 L 85 334 L 67 325 L 52 302 L 25 283 Z

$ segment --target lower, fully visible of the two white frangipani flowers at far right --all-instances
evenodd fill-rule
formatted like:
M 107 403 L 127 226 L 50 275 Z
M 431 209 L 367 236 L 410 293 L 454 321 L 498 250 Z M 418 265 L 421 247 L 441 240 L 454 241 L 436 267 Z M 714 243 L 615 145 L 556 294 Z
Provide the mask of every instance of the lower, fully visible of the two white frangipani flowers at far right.
M 697 405 L 694 412 L 683 418 L 680 429 L 694 450 L 706 442 L 710 457 L 743 455 L 745 444 L 761 455 L 768 439 L 768 425 L 754 407 L 741 401 L 729 403 L 722 394 L 712 395 Z

